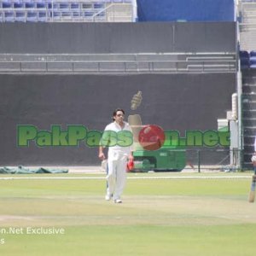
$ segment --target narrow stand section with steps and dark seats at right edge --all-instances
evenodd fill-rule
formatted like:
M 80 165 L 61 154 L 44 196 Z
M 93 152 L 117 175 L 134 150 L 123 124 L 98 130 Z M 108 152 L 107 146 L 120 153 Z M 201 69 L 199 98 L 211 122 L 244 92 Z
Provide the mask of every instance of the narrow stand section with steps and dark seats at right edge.
M 256 1 L 240 0 L 237 16 L 242 72 L 243 164 L 251 168 L 256 135 Z

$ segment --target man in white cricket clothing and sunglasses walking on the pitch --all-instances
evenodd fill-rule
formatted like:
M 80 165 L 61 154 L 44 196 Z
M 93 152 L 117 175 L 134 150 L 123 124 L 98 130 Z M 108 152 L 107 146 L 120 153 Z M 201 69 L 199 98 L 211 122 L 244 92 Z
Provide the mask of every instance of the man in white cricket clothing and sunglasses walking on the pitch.
M 121 195 L 125 188 L 127 160 L 133 160 L 131 127 L 124 121 L 125 111 L 117 108 L 113 111 L 113 122 L 106 126 L 99 158 L 106 159 L 103 152 L 104 146 L 108 146 L 108 188 L 105 199 L 109 201 L 113 197 L 115 203 L 121 203 Z M 107 142 L 107 143 L 106 143 Z

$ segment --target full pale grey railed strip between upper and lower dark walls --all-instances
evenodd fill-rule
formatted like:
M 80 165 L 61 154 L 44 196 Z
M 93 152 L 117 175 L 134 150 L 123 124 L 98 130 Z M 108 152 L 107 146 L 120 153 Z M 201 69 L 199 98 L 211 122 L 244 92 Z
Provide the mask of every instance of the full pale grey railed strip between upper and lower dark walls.
M 0 54 L 0 73 L 234 73 L 235 53 Z

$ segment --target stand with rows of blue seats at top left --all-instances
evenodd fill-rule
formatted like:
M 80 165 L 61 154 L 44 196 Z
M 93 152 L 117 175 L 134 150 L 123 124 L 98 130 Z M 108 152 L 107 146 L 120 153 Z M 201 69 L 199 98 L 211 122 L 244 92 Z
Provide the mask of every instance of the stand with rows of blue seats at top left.
M 137 20 L 133 0 L 0 1 L 2 22 L 131 22 Z

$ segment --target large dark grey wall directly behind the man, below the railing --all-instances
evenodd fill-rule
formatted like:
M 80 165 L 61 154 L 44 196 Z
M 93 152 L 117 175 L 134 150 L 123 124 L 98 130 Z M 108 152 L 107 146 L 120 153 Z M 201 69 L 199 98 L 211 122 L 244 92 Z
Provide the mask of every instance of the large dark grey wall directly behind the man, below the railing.
M 0 166 L 100 165 L 97 148 L 17 147 L 17 125 L 50 131 L 51 125 L 84 125 L 102 131 L 113 109 L 139 113 L 143 124 L 163 129 L 217 130 L 236 90 L 234 73 L 199 74 L 1 74 Z M 131 97 L 143 92 L 143 103 L 131 111 Z

